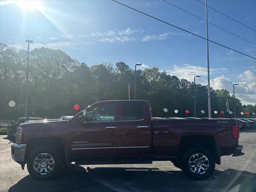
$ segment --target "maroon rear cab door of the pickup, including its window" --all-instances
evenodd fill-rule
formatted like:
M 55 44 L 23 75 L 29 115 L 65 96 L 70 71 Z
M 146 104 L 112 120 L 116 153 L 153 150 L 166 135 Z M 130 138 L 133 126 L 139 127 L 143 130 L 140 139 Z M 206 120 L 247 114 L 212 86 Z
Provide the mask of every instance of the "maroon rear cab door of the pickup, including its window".
M 148 102 L 121 102 L 118 154 L 130 156 L 151 154 L 151 114 Z

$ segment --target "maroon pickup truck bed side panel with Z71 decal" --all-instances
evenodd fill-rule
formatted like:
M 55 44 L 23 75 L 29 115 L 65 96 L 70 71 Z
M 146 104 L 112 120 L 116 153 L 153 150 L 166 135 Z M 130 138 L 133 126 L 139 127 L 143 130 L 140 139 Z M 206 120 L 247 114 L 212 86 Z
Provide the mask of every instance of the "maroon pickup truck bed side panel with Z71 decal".
M 212 136 L 220 155 L 230 155 L 238 145 L 232 137 L 235 124 L 234 120 L 153 120 L 153 156 L 177 156 L 183 136 Z

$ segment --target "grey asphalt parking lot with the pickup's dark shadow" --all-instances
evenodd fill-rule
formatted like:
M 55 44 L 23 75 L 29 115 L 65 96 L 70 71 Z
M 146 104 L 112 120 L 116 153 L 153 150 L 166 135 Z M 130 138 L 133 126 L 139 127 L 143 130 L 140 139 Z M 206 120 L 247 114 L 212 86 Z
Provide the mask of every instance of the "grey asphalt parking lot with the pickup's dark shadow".
M 0 136 L 0 192 L 255 192 L 256 130 L 240 133 L 244 156 L 222 156 L 213 176 L 204 181 L 187 178 L 171 162 L 136 165 L 73 166 L 50 181 L 28 175 L 11 158 L 13 140 Z

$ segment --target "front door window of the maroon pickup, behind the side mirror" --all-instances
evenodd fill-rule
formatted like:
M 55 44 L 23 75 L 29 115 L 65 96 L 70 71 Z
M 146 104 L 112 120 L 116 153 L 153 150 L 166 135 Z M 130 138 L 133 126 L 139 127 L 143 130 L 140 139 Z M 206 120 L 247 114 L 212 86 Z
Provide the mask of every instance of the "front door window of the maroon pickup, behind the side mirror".
M 92 106 L 87 112 L 88 122 L 114 121 L 116 113 L 115 103 L 102 103 Z

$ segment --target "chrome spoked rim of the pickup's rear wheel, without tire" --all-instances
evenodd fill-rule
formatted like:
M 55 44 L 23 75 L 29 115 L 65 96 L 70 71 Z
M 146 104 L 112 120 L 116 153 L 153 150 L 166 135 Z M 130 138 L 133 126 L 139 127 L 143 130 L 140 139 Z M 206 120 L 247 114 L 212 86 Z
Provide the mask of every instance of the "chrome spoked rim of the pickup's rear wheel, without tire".
M 209 160 L 202 153 L 192 155 L 188 160 L 190 170 L 195 174 L 204 174 L 209 168 Z

